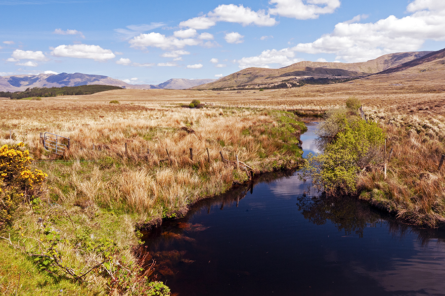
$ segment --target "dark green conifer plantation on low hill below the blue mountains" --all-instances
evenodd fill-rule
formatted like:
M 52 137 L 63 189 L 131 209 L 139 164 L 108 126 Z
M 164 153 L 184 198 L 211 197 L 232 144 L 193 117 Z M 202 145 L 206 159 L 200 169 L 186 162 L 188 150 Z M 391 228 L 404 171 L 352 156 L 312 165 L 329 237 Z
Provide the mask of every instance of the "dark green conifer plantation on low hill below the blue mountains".
M 81 85 L 81 86 L 64 86 L 52 88 L 28 88 L 24 92 L 0 92 L 1 98 L 23 99 L 33 97 L 56 97 L 56 96 L 78 96 L 91 95 L 95 93 L 120 90 L 121 87 L 111 85 Z

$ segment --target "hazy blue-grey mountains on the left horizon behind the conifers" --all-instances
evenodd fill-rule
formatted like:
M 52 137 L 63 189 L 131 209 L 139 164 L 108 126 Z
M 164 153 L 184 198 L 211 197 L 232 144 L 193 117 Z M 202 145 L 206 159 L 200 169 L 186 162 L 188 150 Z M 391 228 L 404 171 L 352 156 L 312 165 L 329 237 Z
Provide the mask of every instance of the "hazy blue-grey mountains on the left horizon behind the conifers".
M 1 92 L 19 92 L 27 88 L 35 87 L 64 87 L 81 85 L 112 85 L 126 89 L 188 89 L 203 83 L 209 83 L 215 79 L 170 79 L 159 85 L 151 84 L 128 84 L 122 80 L 113 79 L 103 75 L 90 75 L 82 73 L 60 73 L 39 75 L 12 75 L 0 76 Z

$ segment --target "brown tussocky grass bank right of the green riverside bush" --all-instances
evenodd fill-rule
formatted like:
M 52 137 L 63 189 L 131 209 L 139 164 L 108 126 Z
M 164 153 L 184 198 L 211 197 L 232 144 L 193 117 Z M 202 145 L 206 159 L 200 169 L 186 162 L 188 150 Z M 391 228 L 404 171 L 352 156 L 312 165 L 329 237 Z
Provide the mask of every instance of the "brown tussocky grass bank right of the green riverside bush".
M 439 227 L 445 223 L 445 118 L 434 113 L 369 112 L 387 134 L 384 163 L 368 168 L 358 179 L 361 198 L 408 223 Z

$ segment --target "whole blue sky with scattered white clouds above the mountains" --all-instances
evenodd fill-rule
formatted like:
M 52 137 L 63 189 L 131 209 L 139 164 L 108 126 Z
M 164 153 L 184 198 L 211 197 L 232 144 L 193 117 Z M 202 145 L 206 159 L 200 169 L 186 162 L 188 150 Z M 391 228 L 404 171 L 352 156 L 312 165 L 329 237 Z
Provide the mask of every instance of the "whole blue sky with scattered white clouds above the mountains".
M 444 0 L 0 0 L 0 76 L 131 84 L 445 48 Z

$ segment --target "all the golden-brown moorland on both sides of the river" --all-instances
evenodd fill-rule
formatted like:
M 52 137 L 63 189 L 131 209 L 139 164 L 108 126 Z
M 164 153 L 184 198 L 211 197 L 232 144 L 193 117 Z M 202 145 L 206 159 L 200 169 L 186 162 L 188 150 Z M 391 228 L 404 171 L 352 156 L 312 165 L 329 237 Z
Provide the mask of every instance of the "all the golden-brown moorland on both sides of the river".
M 175 219 L 252 174 L 298 167 L 305 128 L 296 114 L 320 115 L 351 97 L 392 150 L 386 175 L 373 163 L 357 176 L 357 198 L 405 223 L 442 226 L 444 70 L 436 55 L 339 84 L 0 99 L 0 144 L 23 142 L 30 168 L 47 174 L 32 189 L 3 187 L 17 204 L 5 205 L 2 221 L 2 293 L 168 295 L 150 278 L 154 266 L 139 271 L 137 227 Z M 182 106 L 192 100 L 199 108 Z M 41 132 L 69 137 L 70 150 L 46 151 Z

